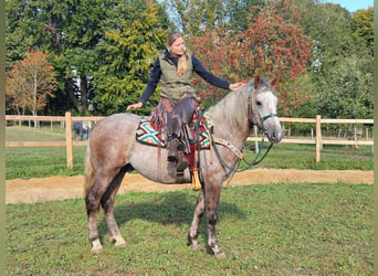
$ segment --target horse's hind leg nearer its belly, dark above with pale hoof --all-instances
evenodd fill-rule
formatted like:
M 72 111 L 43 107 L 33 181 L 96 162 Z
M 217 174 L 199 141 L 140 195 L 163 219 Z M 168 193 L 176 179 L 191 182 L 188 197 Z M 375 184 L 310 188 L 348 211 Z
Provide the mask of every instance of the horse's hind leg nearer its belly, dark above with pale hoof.
M 123 168 L 117 176 L 113 179 L 112 183 L 107 188 L 106 192 L 104 193 L 101 205 L 104 209 L 105 220 L 107 227 L 111 233 L 111 241 L 114 243 L 116 247 L 126 246 L 125 240 L 122 237 L 117 222 L 114 217 L 113 206 L 115 197 L 119 189 L 120 182 L 126 173 L 126 168 Z

